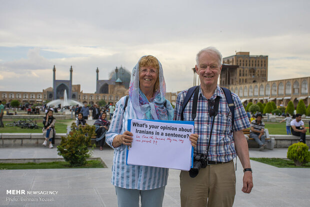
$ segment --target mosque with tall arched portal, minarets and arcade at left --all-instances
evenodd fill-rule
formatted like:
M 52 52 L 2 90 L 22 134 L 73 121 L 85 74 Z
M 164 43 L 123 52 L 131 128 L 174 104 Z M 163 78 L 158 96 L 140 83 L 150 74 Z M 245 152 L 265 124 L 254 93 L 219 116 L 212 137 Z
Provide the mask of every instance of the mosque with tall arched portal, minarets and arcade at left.
M 124 87 L 122 80 L 98 80 L 98 68 L 96 85 L 100 86 L 96 93 L 84 93 L 80 90 L 80 84 L 72 84 L 72 66 L 69 69 L 69 80 L 57 80 L 56 68 L 53 66 L 53 86 L 43 89 L 42 92 L 23 92 L 23 91 L 0 91 L 0 98 L 2 102 L 10 102 L 11 100 L 18 100 L 20 103 L 42 104 L 44 100 L 62 99 L 64 90 L 67 91 L 67 98 L 77 100 L 86 104 L 98 103 L 104 100 L 106 103 L 115 104 L 122 96 L 128 94 L 128 89 Z

